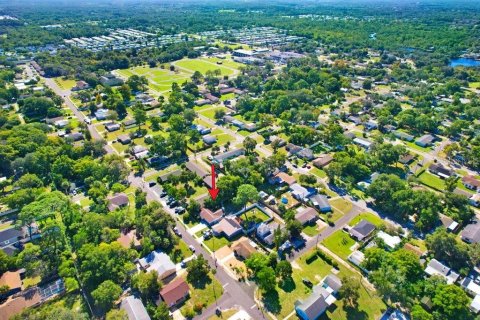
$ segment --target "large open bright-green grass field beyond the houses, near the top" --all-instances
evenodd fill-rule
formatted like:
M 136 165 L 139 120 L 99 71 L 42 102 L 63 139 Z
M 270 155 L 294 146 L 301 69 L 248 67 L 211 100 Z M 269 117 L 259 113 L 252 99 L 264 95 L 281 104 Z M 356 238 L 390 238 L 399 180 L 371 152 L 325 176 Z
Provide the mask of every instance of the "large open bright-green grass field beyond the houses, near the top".
M 217 62 L 221 63 L 218 64 Z M 182 59 L 171 63 L 175 66 L 175 71 L 170 71 L 168 65 L 165 68 L 149 68 L 147 66 L 132 67 L 129 69 L 117 70 L 116 73 L 123 78 L 133 75 L 145 76 L 148 79 L 150 89 L 158 94 L 167 94 L 172 88 L 172 83 L 182 84 L 188 81 L 195 71 L 203 75 L 207 71 L 220 70 L 222 76 L 234 76 L 238 73 L 241 64 L 227 59 L 218 58 L 196 58 Z

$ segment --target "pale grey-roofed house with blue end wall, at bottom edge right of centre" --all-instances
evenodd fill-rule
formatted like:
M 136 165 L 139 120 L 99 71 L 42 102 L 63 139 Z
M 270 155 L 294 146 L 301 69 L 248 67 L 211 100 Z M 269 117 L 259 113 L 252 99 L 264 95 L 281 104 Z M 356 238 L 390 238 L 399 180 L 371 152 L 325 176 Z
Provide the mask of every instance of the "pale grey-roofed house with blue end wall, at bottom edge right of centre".
M 328 275 L 324 281 L 313 287 L 312 293 L 305 300 L 295 302 L 295 311 L 302 320 L 318 319 L 337 298 L 335 295 L 342 287 L 337 276 Z

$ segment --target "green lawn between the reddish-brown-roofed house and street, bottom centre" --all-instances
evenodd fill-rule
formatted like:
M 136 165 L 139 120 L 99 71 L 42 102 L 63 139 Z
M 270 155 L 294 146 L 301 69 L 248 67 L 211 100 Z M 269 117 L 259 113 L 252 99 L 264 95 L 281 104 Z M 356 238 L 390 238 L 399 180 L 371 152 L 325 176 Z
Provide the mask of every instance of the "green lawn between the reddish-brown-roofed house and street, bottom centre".
M 223 294 L 222 284 L 213 274 L 210 274 L 208 279 L 205 280 L 195 285 L 188 284 L 190 286 L 190 298 L 183 304 L 180 311 L 193 308 L 195 305 L 203 305 L 204 308 L 207 308 L 215 302 L 215 298 L 220 299 Z

